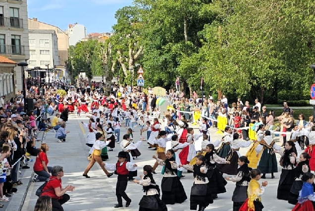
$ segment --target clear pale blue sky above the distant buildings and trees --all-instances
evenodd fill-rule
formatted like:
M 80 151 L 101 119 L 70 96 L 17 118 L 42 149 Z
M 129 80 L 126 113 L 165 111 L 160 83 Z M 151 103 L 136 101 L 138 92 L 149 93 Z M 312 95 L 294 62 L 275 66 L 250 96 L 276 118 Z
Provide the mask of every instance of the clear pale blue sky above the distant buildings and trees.
M 82 24 L 87 34 L 111 32 L 115 12 L 132 5 L 132 0 L 27 0 L 28 17 L 68 29 L 69 24 Z

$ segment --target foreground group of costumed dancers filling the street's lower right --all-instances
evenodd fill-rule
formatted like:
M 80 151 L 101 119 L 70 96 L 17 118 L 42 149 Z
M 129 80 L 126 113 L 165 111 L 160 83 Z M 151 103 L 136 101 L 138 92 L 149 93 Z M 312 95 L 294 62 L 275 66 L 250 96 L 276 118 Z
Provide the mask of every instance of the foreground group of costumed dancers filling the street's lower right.
M 144 196 L 139 203 L 141 211 L 157 209 L 166 211 L 168 204 L 183 203 L 187 200 L 187 196 L 180 179 L 184 177 L 183 169 L 187 169 L 188 172 L 193 172 L 194 176 L 190 195 L 191 210 L 204 211 L 209 204 L 213 203 L 213 199 L 218 197 L 218 194 L 226 192 L 225 185 L 228 180 L 236 183 L 232 197 L 233 211 L 261 211 L 263 209 L 261 196 L 267 182 L 259 184 L 258 180 L 266 178 L 266 174 L 271 174 L 271 178 L 274 178 L 273 173 L 278 171 L 275 153 L 279 153 L 281 154 L 279 163 L 282 166 L 282 172 L 277 198 L 295 204 L 294 211 L 314 210 L 314 207 L 313 210 L 305 210 L 306 206 L 302 206 L 304 203 L 312 204 L 307 201 L 315 201 L 314 191 L 308 192 L 307 196 L 303 191 L 310 187 L 307 183 L 314 180 L 314 175 L 310 173 L 311 170 L 315 170 L 310 167 L 310 160 L 314 153 L 312 146 L 315 144 L 315 140 L 312 139 L 312 135 L 315 133 L 313 127 L 312 131 L 306 133 L 310 139 L 310 146 L 303 153 L 301 149 L 296 149 L 299 146 L 295 146 L 296 140 L 292 139 L 294 134 L 286 142 L 282 152 L 281 147 L 275 144 L 270 131 L 265 131 L 264 126 L 259 125 L 257 141 L 254 142 L 246 156 L 241 156 L 240 148 L 250 146 L 252 141 L 242 140 L 241 134 L 237 131 L 233 133 L 230 127 L 225 128 L 220 140 L 211 142 L 208 131 L 203 129 L 207 128 L 206 120 L 201 123 L 200 133 L 194 134 L 194 129 L 189 128 L 185 121 L 177 121 L 176 124 L 166 117 L 165 130 L 161 130 L 158 119 L 154 119 L 153 124 L 149 124 L 151 133 L 149 133 L 148 144 L 150 149 L 157 150 L 157 156 L 153 156 L 156 163 L 153 167 L 146 165 L 143 169 L 144 176 L 141 176 L 141 180 L 137 180 L 134 179 L 137 176 L 134 157 L 135 153 L 140 154 L 137 148 L 141 145 L 142 140 L 134 143 L 133 131 L 128 130 L 128 134 L 123 136 L 123 141 L 120 143 L 122 151 L 119 152 L 118 162 L 116 164 L 104 163 L 105 159 L 102 157 L 104 148 L 110 144 L 112 144 L 110 148 L 114 148 L 114 129 L 110 121 L 107 123 L 106 130 L 103 130 L 101 124 L 93 123 L 94 119 L 91 118 L 89 124 L 85 124 L 89 128 L 88 139 L 91 140 L 91 143 L 87 144 L 91 147 L 91 161 L 83 176 L 89 178 L 88 172 L 95 162 L 101 166 L 108 177 L 113 175 L 108 170 L 114 170 L 114 173 L 118 175 L 116 186 L 118 204 L 115 205 L 115 208 L 123 206 L 122 198 L 126 201 L 126 207 L 131 203 L 125 193 L 128 180 L 133 180 L 143 186 Z M 176 129 L 173 125 L 177 125 L 179 128 Z M 97 133 L 95 134 L 95 132 Z M 93 144 L 92 139 L 94 139 Z M 217 150 L 216 147 L 218 147 Z M 163 166 L 163 178 L 160 185 L 161 200 L 159 199 L 159 186 L 153 178 L 158 165 Z M 235 176 L 224 178 L 223 173 Z

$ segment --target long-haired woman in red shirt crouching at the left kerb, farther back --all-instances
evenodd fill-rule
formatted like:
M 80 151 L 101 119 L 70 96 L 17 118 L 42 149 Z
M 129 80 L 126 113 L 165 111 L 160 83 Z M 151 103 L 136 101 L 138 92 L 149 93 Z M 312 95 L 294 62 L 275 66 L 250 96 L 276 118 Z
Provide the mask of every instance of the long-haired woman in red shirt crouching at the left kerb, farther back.
M 50 172 L 52 171 L 52 167 L 47 166 L 48 158 L 46 153 L 48 150 L 49 147 L 47 144 L 41 145 L 41 152 L 38 153 L 33 167 L 33 170 L 36 173 L 33 176 L 33 182 L 46 181 L 51 176 Z

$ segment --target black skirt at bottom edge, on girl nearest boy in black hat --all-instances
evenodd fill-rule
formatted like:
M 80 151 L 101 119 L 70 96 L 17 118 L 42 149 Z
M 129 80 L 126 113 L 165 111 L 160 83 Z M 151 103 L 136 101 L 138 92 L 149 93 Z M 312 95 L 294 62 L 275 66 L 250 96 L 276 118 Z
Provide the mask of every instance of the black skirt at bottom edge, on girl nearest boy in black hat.
M 165 203 L 158 195 L 143 196 L 139 202 L 139 211 L 167 211 Z

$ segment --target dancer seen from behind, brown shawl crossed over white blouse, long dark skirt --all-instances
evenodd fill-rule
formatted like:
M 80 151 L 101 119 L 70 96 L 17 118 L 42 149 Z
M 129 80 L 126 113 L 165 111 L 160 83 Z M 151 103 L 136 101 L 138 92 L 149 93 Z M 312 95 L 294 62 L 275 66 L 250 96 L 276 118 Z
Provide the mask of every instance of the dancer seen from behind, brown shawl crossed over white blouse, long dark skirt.
M 273 173 L 278 172 L 278 164 L 275 151 L 280 151 L 281 147 L 276 145 L 272 139 L 270 130 L 265 131 L 265 136 L 256 147 L 257 156 L 262 155 L 258 162 L 258 169 L 262 171 L 262 178 L 266 178 L 266 173 L 271 173 L 271 179 L 274 178 Z M 262 152 L 262 153 L 261 153 Z

